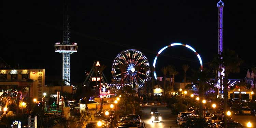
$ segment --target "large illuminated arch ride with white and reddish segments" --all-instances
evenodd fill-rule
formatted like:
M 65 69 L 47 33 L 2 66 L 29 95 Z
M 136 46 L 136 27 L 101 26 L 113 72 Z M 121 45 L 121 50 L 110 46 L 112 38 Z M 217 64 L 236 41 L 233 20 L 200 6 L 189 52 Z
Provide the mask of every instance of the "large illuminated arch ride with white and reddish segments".
M 199 61 L 200 61 L 200 68 L 201 68 L 201 71 L 202 71 L 202 70 L 203 70 L 203 62 L 202 62 L 202 59 L 201 59 L 200 55 L 196 52 L 196 50 L 195 50 L 193 47 L 191 47 L 191 46 L 189 46 L 189 45 L 187 45 L 187 44 L 182 44 L 182 43 L 172 43 L 172 44 L 170 44 L 170 45 L 167 45 L 167 46 L 163 47 L 163 48 L 157 53 L 157 55 L 156 55 L 156 57 L 155 57 L 155 59 L 154 59 L 154 63 L 153 63 L 154 68 L 156 67 L 156 60 L 157 60 L 157 57 L 161 54 L 161 52 L 162 52 L 163 50 L 165 50 L 166 48 L 168 48 L 168 47 L 177 46 L 177 45 L 178 45 L 178 46 L 187 47 L 187 48 L 189 48 L 190 50 L 192 50 L 192 51 L 197 55 L 197 58 L 198 58 Z M 154 76 L 155 76 L 155 79 L 156 79 L 156 71 L 154 71 Z

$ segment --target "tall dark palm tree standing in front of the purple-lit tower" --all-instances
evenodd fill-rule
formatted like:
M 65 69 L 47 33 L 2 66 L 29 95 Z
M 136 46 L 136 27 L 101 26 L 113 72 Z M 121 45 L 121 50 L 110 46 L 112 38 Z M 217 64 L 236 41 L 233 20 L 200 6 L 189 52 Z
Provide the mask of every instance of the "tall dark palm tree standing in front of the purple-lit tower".
M 243 62 L 236 52 L 233 50 L 225 50 L 221 56 L 218 57 L 218 62 L 219 65 L 223 65 L 225 67 L 225 77 L 223 79 L 223 84 L 224 84 L 224 111 L 227 111 L 227 98 L 228 98 L 228 90 L 227 90 L 227 85 L 228 85 L 228 76 L 230 73 L 239 73 L 240 68 L 239 66 Z M 227 117 L 226 115 L 224 116 L 224 126 L 227 126 Z

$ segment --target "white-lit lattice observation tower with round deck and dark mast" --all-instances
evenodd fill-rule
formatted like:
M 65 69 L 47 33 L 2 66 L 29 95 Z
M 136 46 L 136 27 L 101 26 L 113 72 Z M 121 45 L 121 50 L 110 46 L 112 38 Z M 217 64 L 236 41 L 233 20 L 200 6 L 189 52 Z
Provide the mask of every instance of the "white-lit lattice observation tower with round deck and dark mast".
M 77 43 L 70 43 L 70 25 L 68 7 L 63 2 L 63 42 L 57 42 L 54 45 L 55 52 L 62 54 L 62 80 L 66 85 L 70 85 L 70 54 L 76 53 Z

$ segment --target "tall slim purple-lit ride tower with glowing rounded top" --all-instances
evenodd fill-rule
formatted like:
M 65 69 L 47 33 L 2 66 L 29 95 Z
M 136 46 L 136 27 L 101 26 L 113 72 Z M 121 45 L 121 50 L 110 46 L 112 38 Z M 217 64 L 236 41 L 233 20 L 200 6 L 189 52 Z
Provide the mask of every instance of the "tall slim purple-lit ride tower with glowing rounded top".
M 224 7 L 224 2 L 221 0 L 217 3 L 218 7 L 218 54 L 221 56 L 222 54 L 222 14 L 223 14 L 223 7 Z M 221 57 L 222 59 L 222 57 Z M 219 83 L 219 88 L 223 89 L 223 77 L 225 76 L 224 74 L 224 67 L 222 65 L 219 65 L 219 69 L 221 71 L 218 72 L 218 83 Z

